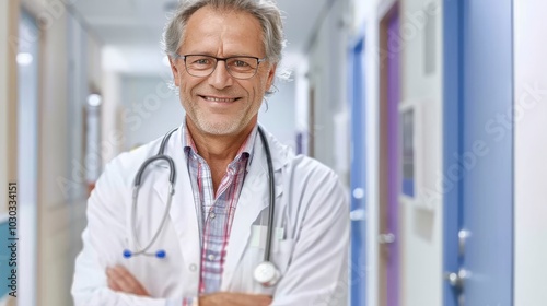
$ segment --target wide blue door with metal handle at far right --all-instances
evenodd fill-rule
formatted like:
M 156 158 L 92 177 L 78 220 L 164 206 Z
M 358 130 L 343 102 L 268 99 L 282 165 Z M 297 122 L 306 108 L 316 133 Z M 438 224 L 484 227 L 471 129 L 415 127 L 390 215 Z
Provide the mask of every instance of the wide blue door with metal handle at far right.
M 444 305 L 512 305 L 512 1 L 444 5 Z

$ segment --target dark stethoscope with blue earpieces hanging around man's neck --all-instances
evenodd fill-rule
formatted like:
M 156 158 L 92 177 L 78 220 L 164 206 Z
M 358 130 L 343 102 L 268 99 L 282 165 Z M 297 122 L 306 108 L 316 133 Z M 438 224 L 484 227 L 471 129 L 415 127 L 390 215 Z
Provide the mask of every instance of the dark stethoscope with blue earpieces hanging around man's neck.
M 131 224 L 130 224 L 130 232 L 131 236 L 135 242 L 136 250 L 130 250 L 130 249 L 125 249 L 124 250 L 124 257 L 125 258 L 131 258 L 135 256 L 139 255 L 144 255 L 144 256 L 154 256 L 156 258 L 165 258 L 167 256 L 166 251 L 164 249 L 159 249 L 155 252 L 149 252 L 149 249 L 152 247 L 152 245 L 155 243 L 158 237 L 160 236 L 160 233 L 162 232 L 162 228 L 165 224 L 165 221 L 167 220 L 170 210 L 171 210 L 171 203 L 173 200 L 173 195 L 175 193 L 175 179 L 176 179 L 176 170 L 175 170 L 175 162 L 173 158 L 170 156 L 165 155 L 165 146 L 167 145 L 168 139 L 177 130 L 177 128 L 168 131 L 162 139 L 162 142 L 160 144 L 160 150 L 158 151 L 158 154 L 148 158 L 142 163 L 140 166 L 139 170 L 137 172 L 137 175 L 135 176 L 133 180 L 133 192 L 132 192 L 132 205 L 131 205 Z M 271 242 L 272 242 L 272 235 L 274 235 L 274 213 L 276 211 L 275 208 L 275 197 L 276 190 L 275 190 L 275 183 L 274 183 L 274 164 L 271 162 L 271 153 L 270 149 L 268 145 L 268 141 L 266 140 L 266 136 L 258 126 L 258 133 L 260 134 L 260 140 L 263 142 L 264 149 L 266 151 L 266 160 L 268 163 L 268 176 L 269 176 L 269 208 L 268 208 L 268 231 L 267 231 L 267 238 L 266 238 L 266 249 L 264 251 L 264 261 L 260 262 L 254 271 L 254 279 L 256 282 L 260 283 L 264 286 L 272 286 L 275 285 L 278 280 L 280 279 L 281 274 L 277 267 L 274 264 L 274 262 L 270 261 L 270 254 L 271 254 Z M 137 220 L 137 202 L 139 198 L 139 189 L 142 185 L 142 174 L 147 169 L 147 167 L 158 161 L 165 161 L 168 164 L 170 167 L 170 176 L 168 176 L 168 181 L 170 181 L 170 188 L 168 188 L 168 197 L 167 197 L 167 204 L 165 205 L 165 211 L 162 216 L 162 221 L 158 228 L 155 229 L 154 235 L 152 236 L 152 239 L 150 239 L 150 243 L 146 245 L 146 247 L 141 248 L 141 244 L 137 237 L 136 229 L 135 229 L 135 223 Z

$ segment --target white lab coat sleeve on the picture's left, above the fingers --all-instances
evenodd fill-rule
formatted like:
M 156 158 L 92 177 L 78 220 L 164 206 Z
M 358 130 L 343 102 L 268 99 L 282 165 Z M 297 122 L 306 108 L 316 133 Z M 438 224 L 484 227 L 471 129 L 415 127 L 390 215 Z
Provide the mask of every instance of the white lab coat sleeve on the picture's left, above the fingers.
M 88 227 L 82 234 L 83 250 L 75 262 L 72 284 L 75 306 L 165 306 L 177 303 L 177 299 L 117 293 L 107 286 L 106 268 L 119 262 L 126 237 L 126 211 L 120 195 L 130 189 L 124 186 L 124 181 L 119 163 L 118 166 L 108 166 L 88 201 Z

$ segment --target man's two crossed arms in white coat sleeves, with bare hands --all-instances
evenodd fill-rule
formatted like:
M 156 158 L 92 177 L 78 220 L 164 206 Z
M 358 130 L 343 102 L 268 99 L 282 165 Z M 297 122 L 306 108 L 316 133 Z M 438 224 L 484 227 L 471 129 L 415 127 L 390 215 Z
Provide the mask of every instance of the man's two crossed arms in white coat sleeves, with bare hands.
M 108 257 L 112 249 L 121 249 L 117 237 L 125 235 L 126 228 L 119 222 L 126 215 L 119 195 L 128 190 L 118 177 L 121 170 L 105 172 L 97 188 L 90 198 L 88 228 L 83 234 L 84 250 L 75 266 L 72 294 L 75 305 L 176 305 L 177 299 L 151 297 L 131 273 L 124 268 L 112 267 L 115 259 Z M 321 172 L 304 181 L 322 181 L 313 188 L 303 188 L 303 195 L 294 193 L 289 201 L 302 202 L 307 213 L 299 216 L 302 221 L 291 263 L 279 282 L 274 296 L 242 293 L 214 293 L 199 296 L 200 306 L 245 306 L 245 305 L 342 305 L 349 284 L 347 283 L 347 252 L 349 243 L 348 205 L 345 190 L 340 188 L 331 173 Z M 115 176 L 114 179 L 112 176 Z M 311 175 L 310 175 L 311 177 Z M 121 189 L 121 191 L 120 191 Z M 291 196 L 291 195 L 288 195 Z M 294 215 L 294 214 L 292 214 Z M 299 223 L 300 224 L 300 223 Z M 108 232 L 102 231 L 108 228 Z M 114 233 L 114 234 L 113 234 Z M 100 256 L 101 255 L 101 256 Z M 104 271 L 105 267 L 110 267 Z M 103 270 L 103 271 L 102 271 Z M 106 286 L 105 286 L 106 285 Z

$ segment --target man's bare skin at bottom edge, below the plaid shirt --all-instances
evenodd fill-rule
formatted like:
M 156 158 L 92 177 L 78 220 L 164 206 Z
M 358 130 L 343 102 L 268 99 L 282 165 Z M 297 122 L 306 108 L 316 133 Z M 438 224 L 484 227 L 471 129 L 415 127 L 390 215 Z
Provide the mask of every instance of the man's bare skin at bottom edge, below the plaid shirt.
M 269 306 L 271 296 L 219 292 L 199 297 L 199 306 Z

